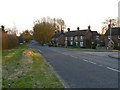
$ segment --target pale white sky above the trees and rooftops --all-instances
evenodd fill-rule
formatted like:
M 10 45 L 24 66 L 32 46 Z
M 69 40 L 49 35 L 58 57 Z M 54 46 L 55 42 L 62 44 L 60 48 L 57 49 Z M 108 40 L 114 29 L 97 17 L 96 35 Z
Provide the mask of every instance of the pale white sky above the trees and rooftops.
M 0 0 L 0 25 L 32 30 L 42 17 L 62 18 L 67 28 L 100 31 L 106 18 L 118 17 L 120 0 Z

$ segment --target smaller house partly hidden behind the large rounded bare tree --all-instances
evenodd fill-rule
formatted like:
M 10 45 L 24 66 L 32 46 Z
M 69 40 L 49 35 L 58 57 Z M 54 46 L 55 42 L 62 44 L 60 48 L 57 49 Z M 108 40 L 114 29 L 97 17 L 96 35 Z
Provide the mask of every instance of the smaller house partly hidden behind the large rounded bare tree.
M 64 46 L 65 42 L 65 34 L 63 30 L 61 32 L 55 32 L 55 34 L 52 37 L 52 46 Z

